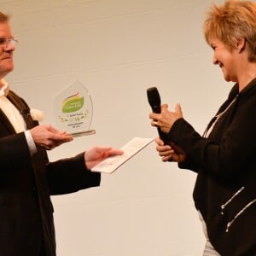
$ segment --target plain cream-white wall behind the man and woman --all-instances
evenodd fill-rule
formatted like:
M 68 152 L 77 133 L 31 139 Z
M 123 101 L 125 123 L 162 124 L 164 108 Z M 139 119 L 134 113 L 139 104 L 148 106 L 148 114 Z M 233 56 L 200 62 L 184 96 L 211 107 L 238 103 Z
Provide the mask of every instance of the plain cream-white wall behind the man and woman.
M 221 3 L 222 1 L 218 1 Z M 79 80 L 94 102 L 96 135 L 49 152 L 156 137 L 146 90 L 183 107 L 202 132 L 231 84 L 212 65 L 201 26 L 211 0 L 0 1 L 20 43 L 8 80 L 55 125 L 53 97 Z M 60 256 L 194 256 L 204 237 L 192 201 L 195 174 L 161 162 L 152 143 L 99 188 L 52 198 Z

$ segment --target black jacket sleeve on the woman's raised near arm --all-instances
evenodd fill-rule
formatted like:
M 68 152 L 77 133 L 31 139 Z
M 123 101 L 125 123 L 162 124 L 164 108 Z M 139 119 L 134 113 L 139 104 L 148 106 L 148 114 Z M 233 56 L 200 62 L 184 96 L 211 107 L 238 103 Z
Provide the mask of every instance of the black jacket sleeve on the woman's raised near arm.
M 239 177 L 254 162 L 256 153 L 255 104 L 255 89 L 238 97 L 236 111 L 220 131 L 223 134 L 218 143 L 201 137 L 184 119 L 177 119 L 169 137 L 203 172 L 224 178 Z

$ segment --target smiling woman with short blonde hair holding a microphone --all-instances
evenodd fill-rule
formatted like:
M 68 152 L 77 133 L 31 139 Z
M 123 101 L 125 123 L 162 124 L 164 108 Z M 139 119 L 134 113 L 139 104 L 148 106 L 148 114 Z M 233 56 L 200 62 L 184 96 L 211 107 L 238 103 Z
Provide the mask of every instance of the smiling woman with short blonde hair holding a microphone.
M 155 141 L 163 161 L 197 172 L 193 197 L 205 227 L 203 255 L 256 255 L 256 3 L 212 5 L 204 23 L 213 64 L 236 84 L 199 135 L 179 105 L 150 113 L 168 136 Z

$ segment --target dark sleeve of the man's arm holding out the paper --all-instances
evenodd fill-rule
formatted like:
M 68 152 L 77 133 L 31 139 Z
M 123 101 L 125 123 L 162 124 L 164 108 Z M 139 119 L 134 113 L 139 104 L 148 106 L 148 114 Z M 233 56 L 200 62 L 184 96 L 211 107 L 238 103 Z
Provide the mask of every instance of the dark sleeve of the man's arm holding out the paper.
M 50 195 L 62 195 L 100 185 L 101 174 L 90 172 L 84 153 L 46 165 Z

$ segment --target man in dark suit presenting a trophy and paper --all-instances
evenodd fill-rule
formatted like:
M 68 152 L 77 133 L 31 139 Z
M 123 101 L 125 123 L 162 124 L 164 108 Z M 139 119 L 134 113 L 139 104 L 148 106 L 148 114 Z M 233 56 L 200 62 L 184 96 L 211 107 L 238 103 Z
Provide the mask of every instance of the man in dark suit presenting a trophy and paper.
M 72 141 L 66 132 L 38 125 L 30 109 L 3 78 L 13 70 L 15 38 L 9 16 L 0 13 L 0 255 L 55 256 L 50 195 L 100 184 L 90 169 L 120 150 L 95 147 L 49 162 L 45 149 Z

